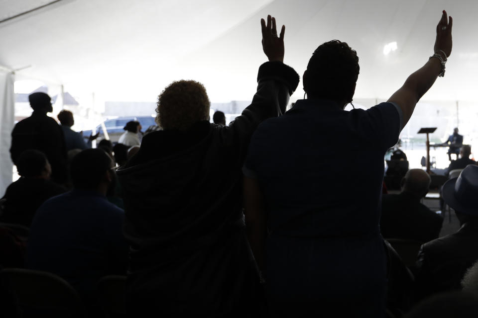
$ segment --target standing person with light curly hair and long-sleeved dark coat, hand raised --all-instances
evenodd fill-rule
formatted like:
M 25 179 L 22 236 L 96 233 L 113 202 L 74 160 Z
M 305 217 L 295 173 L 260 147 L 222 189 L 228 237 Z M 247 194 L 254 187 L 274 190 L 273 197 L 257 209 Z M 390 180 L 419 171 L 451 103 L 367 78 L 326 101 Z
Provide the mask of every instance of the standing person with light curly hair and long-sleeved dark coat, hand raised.
M 257 125 L 285 111 L 299 82 L 282 62 L 283 31 L 280 38 L 270 28 L 262 35 L 270 62 L 260 66 L 252 103 L 233 123 L 209 122 L 201 83 L 175 81 L 158 97 L 163 130 L 144 136 L 118 170 L 132 317 L 261 314 L 265 299 L 245 237 L 240 169 Z

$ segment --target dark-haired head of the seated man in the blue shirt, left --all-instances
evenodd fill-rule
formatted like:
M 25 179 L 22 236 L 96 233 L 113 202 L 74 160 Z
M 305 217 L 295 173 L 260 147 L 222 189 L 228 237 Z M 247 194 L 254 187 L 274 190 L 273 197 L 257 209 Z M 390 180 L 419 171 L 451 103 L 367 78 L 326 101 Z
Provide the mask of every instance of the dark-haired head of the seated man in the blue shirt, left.
M 86 149 L 71 161 L 70 174 L 76 189 L 95 190 L 106 171 L 111 168 L 111 158 L 101 149 Z

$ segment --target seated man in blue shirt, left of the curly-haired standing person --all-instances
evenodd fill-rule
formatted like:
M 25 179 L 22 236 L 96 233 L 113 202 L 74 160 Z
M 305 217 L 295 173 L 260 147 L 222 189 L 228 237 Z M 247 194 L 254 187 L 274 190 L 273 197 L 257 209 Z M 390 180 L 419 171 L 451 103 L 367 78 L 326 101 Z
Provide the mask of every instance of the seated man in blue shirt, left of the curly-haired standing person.
M 106 199 L 116 181 L 111 165 L 100 149 L 76 155 L 71 163 L 74 189 L 40 206 L 27 246 L 26 268 L 61 276 L 93 308 L 100 278 L 126 273 L 124 212 Z

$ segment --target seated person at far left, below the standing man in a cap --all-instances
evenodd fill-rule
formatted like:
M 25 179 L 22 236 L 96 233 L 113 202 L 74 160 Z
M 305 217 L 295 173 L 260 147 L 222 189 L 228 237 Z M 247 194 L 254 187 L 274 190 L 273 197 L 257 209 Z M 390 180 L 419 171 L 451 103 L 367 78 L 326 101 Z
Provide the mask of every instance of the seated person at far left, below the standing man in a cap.
M 66 192 L 66 188 L 50 181 L 51 166 L 43 153 L 26 150 L 16 162 L 21 177 L 6 188 L 0 222 L 29 228 L 38 207 L 49 198 Z

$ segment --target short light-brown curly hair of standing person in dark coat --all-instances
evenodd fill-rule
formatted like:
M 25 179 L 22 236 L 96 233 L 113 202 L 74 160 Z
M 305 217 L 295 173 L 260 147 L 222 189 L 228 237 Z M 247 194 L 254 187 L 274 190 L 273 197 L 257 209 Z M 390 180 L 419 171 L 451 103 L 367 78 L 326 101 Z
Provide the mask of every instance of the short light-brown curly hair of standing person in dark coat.
M 164 129 L 188 130 L 194 123 L 209 120 L 206 88 L 194 80 L 169 84 L 158 96 L 156 122 Z

